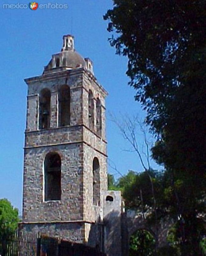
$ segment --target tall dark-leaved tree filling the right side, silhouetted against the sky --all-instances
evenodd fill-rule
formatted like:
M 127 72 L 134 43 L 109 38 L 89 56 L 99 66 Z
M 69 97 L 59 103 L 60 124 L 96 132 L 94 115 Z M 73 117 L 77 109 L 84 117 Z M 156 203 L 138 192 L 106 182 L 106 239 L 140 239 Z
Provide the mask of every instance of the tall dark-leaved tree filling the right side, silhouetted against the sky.
M 104 16 L 113 32 L 110 44 L 128 57 L 129 84 L 156 135 L 152 156 L 169 173 L 182 255 L 200 254 L 198 214 L 206 187 L 205 3 L 114 0 Z

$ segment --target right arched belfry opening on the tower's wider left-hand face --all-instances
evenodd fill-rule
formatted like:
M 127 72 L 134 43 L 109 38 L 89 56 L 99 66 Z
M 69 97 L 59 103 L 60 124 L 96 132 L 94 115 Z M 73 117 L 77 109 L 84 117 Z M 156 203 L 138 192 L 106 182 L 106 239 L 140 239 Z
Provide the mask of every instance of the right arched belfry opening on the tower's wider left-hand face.
M 70 87 L 63 85 L 59 90 L 59 126 L 70 125 Z

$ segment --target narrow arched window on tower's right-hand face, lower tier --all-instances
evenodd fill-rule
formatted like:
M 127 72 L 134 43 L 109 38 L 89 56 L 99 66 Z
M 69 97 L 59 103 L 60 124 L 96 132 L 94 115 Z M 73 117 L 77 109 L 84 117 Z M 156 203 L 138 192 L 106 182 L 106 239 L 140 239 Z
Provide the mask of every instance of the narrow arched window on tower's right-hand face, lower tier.
M 99 183 L 99 160 L 94 157 L 93 160 L 93 205 L 100 205 L 100 183 Z

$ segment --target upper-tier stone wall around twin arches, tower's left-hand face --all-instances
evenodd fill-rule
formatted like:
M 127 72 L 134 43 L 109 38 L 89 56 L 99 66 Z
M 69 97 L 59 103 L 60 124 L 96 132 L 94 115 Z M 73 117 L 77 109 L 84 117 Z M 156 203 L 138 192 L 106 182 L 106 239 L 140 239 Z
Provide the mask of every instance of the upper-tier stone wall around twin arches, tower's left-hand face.
M 72 70 L 73 71 L 73 70 Z M 58 91 L 62 85 L 70 87 L 70 125 L 82 124 L 82 71 L 63 72 L 62 76 L 40 76 L 26 79 L 28 84 L 26 131 L 39 127 L 39 95 L 47 88 L 51 91 L 50 128 L 58 127 Z M 54 77 L 53 77 L 54 76 Z

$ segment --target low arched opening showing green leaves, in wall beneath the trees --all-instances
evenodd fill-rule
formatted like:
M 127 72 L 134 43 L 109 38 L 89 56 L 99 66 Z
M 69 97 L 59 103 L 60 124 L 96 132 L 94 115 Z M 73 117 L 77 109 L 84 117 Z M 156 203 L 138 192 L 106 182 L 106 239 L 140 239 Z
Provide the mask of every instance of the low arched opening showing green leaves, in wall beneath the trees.
M 150 231 L 138 229 L 130 236 L 129 256 L 153 255 L 155 244 L 155 237 Z

